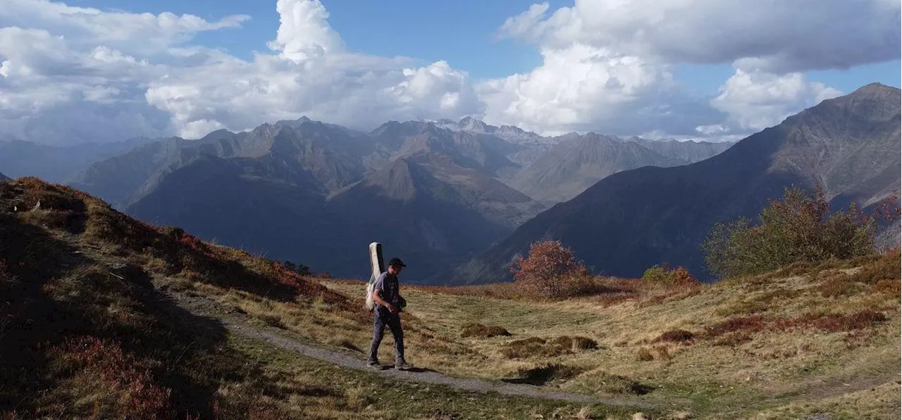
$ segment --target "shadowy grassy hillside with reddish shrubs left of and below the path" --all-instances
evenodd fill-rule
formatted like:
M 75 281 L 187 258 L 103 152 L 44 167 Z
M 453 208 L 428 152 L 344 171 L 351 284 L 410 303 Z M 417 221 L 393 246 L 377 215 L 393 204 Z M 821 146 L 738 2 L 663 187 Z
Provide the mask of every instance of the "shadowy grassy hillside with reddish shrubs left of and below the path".
M 314 279 L 135 222 L 67 187 L 35 178 L 0 183 L 0 237 L 2 418 L 629 414 L 421 388 L 227 333 L 163 291 L 234 301 L 226 308 L 283 328 L 303 320 L 324 341 L 326 329 L 364 331 L 371 321 L 359 299 Z

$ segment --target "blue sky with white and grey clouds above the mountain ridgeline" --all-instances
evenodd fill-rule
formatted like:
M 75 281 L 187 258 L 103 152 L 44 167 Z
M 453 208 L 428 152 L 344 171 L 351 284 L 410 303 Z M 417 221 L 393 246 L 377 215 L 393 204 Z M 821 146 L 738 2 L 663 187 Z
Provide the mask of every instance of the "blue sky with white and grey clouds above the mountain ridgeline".
M 308 116 L 739 139 L 902 86 L 902 0 L 2 0 L 0 140 Z

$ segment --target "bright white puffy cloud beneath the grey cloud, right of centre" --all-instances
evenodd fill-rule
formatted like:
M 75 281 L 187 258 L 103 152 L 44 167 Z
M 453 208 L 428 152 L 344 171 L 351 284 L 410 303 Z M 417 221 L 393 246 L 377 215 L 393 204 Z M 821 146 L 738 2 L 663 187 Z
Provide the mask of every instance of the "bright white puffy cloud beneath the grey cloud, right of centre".
M 666 66 L 612 50 L 577 43 L 541 53 L 531 72 L 480 86 L 487 123 L 548 134 L 591 123 L 616 132 L 629 125 L 619 120 L 657 114 L 656 101 L 675 87 Z

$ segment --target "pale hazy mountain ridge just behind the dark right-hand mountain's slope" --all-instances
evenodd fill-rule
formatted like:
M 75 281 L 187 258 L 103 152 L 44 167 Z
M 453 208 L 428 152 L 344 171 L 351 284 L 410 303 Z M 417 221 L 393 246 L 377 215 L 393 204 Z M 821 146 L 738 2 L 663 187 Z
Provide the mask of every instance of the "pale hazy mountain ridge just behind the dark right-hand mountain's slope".
M 639 142 L 619 142 L 589 133 L 568 135 L 508 183 L 546 205 L 567 201 L 612 174 L 643 166 L 689 163 L 671 158 Z

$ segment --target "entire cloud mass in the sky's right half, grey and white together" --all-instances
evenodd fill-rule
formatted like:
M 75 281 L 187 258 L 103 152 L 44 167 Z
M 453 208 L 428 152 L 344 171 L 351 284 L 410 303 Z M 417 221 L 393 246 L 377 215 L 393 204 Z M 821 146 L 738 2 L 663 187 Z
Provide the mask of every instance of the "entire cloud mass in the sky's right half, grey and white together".
M 734 138 L 841 94 L 808 81 L 806 70 L 902 57 L 902 2 L 816 3 L 575 0 L 554 11 L 548 2 L 531 5 L 498 34 L 535 43 L 543 64 L 487 82 L 486 118 L 553 132 L 591 123 L 606 132 Z M 732 63 L 736 74 L 705 105 L 672 77 L 681 64 L 722 63 Z

